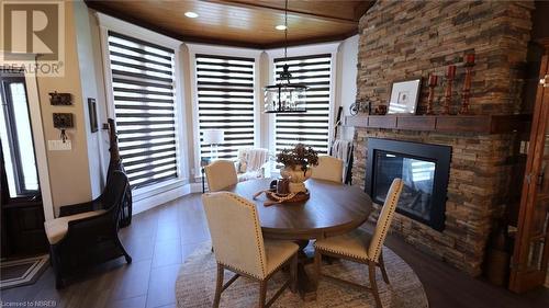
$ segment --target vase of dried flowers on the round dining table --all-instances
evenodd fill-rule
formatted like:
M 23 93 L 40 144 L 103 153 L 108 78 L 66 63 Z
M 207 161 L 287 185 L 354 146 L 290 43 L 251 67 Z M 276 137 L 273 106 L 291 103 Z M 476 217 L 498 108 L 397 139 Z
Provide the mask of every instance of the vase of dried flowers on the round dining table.
M 277 162 L 284 166 L 280 170 L 280 175 L 290 181 L 288 189 L 290 193 L 305 193 L 305 182 L 313 171 L 311 167 L 318 164 L 318 153 L 303 144 L 298 144 L 293 149 L 283 149 L 277 155 Z

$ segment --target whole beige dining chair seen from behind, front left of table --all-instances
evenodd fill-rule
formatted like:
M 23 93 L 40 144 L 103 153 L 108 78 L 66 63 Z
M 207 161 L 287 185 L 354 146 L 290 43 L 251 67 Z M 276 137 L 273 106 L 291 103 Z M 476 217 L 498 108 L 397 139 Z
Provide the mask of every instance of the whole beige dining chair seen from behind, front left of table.
M 234 193 L 206 193 L 202 203 L 217 262 L 213 307 L 219 307 L 222 292 L 240 275 L 259 282 L 259 307 L 270 307 L 288 285 L 295 292 L 298 244 L 264 240 L 256 205 Z M 290 278 L 265 304 L 268 280 L 287 265 Z M 235 275 L 223 285 L 225 269 Z

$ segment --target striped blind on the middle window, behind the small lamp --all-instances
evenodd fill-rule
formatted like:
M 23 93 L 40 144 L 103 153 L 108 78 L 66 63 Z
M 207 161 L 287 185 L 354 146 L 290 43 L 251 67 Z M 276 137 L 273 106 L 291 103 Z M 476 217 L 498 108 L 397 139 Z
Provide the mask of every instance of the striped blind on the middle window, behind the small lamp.
M 204 129 L 222 129 L 219 157 L 235 159 L 238 148 L 254 146 L 254 58 L 195 55 L 200 156 L 210 158 Z

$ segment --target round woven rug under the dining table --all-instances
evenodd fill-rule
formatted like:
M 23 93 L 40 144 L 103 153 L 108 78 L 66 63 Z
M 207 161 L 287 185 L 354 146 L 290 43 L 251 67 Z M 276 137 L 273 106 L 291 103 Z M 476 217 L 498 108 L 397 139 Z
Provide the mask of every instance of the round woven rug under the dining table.
M 384 308 L 422 308 L 428 307 L 427 296 L 419 278 L 399 255 L 383 248 L 383 258 L 389 273 L 390 285 L 383 282 L 378 269 L 377 280 L 380 297 Z M 360 284 L 368 284 L 368 270 L 363 264 L 348 261 L 334 261 L 324 264 L 323 272 L 344 277 Z M 312 264 L 306 267 L 310 275 L 314 274 Z M 198 248 L 187 262 L 181 265 L 176 283 L 178 308 L 212 307 L 215 292 L 216 264 L 210 243 Z M 267 300 L 287 280 L 288 273 L 276 274 L 268 283 Z M 225 282 L 232 273 L 225 271 Z M 221 296 L 220 307 L 256 307 L 259 285 L 257 282 L 239 277 Z M 323 280 L 318 286 L 317 298 L 314 301 L 302 301 L 299 294 L 289 289 L 274 301 L 272 307 L 376 307 L 370 293 Z

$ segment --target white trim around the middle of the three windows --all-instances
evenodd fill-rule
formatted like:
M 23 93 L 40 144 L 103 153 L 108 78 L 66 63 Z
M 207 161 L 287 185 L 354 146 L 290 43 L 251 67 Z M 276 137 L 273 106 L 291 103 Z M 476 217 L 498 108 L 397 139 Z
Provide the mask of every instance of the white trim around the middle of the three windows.
M 216 46 L 208 44 L 186 44 L 189 48 L 189 69 L 190 69 L 190 81 L 192 87 L 192 137 L 194 145 L 194 180 L 198 181 L 202 178 L 200 172 L 200 124 L 199 124 L 199 91 L 197 85 L 197 66 L 195 56 L 197 54 L 212 55 L 212 56 L 225 56 L 225 57 L 245 57 L 254 59 L 254 146 L 259 147 L 261 144 L 261 107 L 259 102 L 259 91 L 261 87 L 259 84 L 260 71 L 259 71 L 259 57 L 262 53 L 260 49 L 251 48 L 238 48 L 238 47 L 227 47 L 227 46 Z

